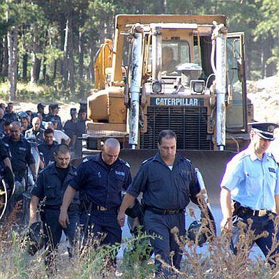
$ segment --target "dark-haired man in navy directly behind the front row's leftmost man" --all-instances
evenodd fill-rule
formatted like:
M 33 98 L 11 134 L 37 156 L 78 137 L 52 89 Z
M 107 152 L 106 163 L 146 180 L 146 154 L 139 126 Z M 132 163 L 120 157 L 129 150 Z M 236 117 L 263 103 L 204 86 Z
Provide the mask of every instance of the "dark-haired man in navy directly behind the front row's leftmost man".
M 44 137 L 45 140 L 38 144 L 38 151 L 40 156 L 43 156 L 43 163 L 46 167 L 49 163 L 54 162 L 54 151 L 58 143 L 54 141 L 54 130 L 51 128 L 45 129 Z

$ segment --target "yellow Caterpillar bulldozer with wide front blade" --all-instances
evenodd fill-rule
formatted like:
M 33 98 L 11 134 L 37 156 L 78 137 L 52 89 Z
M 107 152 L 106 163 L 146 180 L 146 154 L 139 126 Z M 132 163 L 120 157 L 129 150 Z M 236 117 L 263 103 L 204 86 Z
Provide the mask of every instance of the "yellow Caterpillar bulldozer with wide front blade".
M 227 33 L 224 15 L 117 15 L 114 42 L 100 46 L 94 68 L 86 153 L 116 137 L 135 174 L 156 152 L 160 130 L 172 129 L 217 198 L 253 116 L 243 33 Z

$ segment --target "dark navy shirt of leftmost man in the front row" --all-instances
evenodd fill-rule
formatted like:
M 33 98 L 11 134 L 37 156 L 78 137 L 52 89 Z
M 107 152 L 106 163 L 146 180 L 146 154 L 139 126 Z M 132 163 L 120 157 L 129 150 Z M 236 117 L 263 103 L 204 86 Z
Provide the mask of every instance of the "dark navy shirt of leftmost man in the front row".
M 69 165 L 68 174 L 62 184 L 55 163 L 50 164 L 38 174 L 31 195 L 38 197 L 40 200 L 45 198 L 45 206 L 61 206 L 63 195 L 69 182 L 75 177 L 75 172 L 75 167 Z M 80 204 L 78 193 L 75 193 L 71 204 Z

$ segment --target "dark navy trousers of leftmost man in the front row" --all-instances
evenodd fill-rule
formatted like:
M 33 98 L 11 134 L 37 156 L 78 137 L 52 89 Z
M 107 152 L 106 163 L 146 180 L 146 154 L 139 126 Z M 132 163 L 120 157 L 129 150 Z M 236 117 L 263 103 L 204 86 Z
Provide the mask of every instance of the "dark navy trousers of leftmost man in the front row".
M 44 209 L 40 212 L 40 218 L 44 224 L 45 249 L 47 250 L 45 265 L 51 269 L 55 266 L 55 253 L 61 240 L 62 231 L 66 234 L 70 247 L 73 248 L 77 225 L 80 223 L 79 211 L 68 211 L 70 224 L 63 229 L 59 223 L 59 215 L 59 209 Z M 70 255 L 72 251 L 69 250 L 68 252 Z

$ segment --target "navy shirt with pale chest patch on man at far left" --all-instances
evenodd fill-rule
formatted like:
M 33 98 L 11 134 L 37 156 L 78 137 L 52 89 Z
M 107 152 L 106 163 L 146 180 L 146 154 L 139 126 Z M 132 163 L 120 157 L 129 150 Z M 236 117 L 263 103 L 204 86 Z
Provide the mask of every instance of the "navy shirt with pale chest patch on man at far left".
M 14 172 L 23 173 L 27 169 L 27 164 L 35 163 L 31 153 L 31 144 L 20 136 L 20 140 L 14 142 L 10 137 L 4 137 L 3 142 L 8 144 L 11 153 L 11 163 Z

